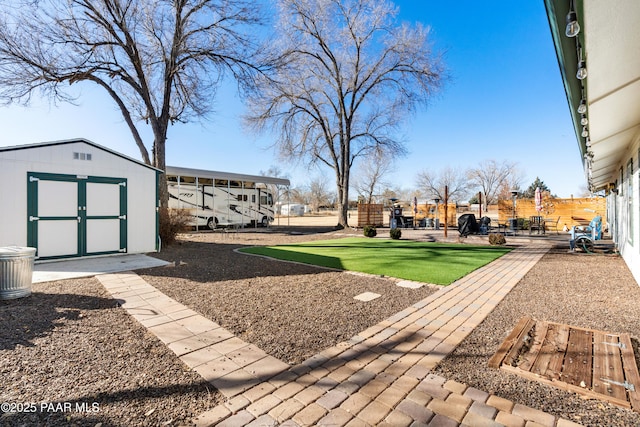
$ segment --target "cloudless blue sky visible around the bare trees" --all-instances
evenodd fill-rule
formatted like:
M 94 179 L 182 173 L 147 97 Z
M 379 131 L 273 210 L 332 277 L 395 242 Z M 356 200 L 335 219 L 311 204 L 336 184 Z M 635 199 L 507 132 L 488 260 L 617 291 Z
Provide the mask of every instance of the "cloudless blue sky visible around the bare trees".
M 387 178 L 414 189 L 423 170 L 463 170 L 485 159 L 517 162 L 527 187 L 539 176 L 561 197 L 579 195 L 584 173 L 542 1 L 396 1 L 400 18 L 431 27 L 434 47 L 445 52 L 451 80 L 427 109 L 410 118 L 401 136 L 409 155 Z M 140 158 L 111 100 L 90 85 L 79 105 L 35 101 L 28 108 L 0 106 L 0 146 L 86 138 Z M 167 164 L 257 174 L 277 165 L 292 185 L 331 171 L 284 163 L 269 135 L 245 132 L 243 106 L 233 84 L 221 88 L 215 114 L 204 123 L 169 130 Z M 148 146 L 152 137 L 144 133 Z M 356 195 L 352 194 L 355 198 Z

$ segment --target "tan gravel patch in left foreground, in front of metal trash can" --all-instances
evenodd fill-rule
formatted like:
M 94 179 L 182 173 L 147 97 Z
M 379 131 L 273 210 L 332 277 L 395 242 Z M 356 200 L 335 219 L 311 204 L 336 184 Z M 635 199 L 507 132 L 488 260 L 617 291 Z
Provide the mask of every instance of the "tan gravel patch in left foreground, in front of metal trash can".
M 0 301 L 1 426 L 177 425 L 222 401 L 96 279 L 32 291 Z

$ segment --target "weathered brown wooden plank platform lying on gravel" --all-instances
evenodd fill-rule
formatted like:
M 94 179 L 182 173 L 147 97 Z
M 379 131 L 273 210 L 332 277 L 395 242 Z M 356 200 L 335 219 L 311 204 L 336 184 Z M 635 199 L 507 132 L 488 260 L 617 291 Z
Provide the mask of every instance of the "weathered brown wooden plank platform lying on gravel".
M 525 316 L 489 367 L 640 412 L 640 375 L 628 334 Z

